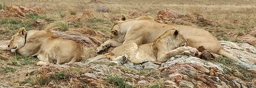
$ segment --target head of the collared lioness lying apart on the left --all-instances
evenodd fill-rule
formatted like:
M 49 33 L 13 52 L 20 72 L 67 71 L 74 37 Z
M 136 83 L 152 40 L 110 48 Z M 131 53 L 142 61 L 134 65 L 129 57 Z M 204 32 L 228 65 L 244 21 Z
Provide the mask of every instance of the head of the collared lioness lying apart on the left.
M 25 35 L 25 28 L 22 27 L 15 35 L 13 35 L 13 37 L 11 37 L 11 42 L 8 45 L 11 52 L 15 52 L 17 49 L 25 45 Z

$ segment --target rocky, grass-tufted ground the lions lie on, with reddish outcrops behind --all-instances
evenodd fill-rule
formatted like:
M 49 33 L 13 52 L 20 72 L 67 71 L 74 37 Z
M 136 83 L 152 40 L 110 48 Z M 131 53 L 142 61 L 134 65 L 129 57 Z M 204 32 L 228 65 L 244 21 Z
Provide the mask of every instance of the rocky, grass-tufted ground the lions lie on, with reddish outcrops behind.
M 200 59 L 189 55 L 177 55 L 166 63 L 116 63 L 94 53 L 95 47 L 109 39 L 108 31 L 117 17 L 110 15 L 108 7 L 97 9 L 105 19 L 96 13 L 70 12 L 60 19 L 41 16 L 47 13 L 42 7 L 9 5 L 0 11 L 0 87 L 256 87 L 256 27 L 249 27 L 247 33 L 236 30 L 220 31 L 218 21 L 206 19 L 199 13 L 178 13 L 172 9 L 157 12 L 154 17 L 159 23 L 202 27 L 219 40 L 225 36 L 235 37 L 234 43 L 220 41 L 229 53 L 241 61 L 216 54 L 214 59 Z M 147 13 L 129 11 L 130 18 Z M 62 16 L 62 15 L 60 15 Z M 14 18 L 13 18 L 14 17 Z M 6 21 L 5 21 L 6 20 Z M 97 25 L 94 25 L 97 23 Z M 237 24 L 241 25 L 240 22 Z M 81 26 L 86 25 L 86 26 Z M 11 35 L 19 27 L 28 30 L 49 29 L 64 39 L 73 39 L 84 46 L 83 59 L 70 65 L 36 66 L 35 57 L 21 56 L 7 50 Z M 227 27 L 226 27 L 227 28 Z M 223 35 L 225 34 L 225 35 Z

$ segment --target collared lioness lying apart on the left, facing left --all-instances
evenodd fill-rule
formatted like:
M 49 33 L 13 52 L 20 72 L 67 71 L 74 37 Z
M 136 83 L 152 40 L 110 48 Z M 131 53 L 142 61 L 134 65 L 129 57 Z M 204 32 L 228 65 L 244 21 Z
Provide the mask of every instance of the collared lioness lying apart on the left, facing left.
M 50 31 L 25 31 L 22 27 L 13 35 L 8 45 L 11 52 L 21 55 L 37 56 L 37 65 L 48 63 L 74 63 L 80 61 L 82 47 L 80 43 L 68 39 L 60 39 Z

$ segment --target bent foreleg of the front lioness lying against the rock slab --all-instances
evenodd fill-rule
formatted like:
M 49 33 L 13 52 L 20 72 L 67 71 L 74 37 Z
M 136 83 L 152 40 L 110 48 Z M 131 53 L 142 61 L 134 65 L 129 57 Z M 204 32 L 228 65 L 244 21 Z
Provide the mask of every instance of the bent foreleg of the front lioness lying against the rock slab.
M 159 53 L 157 53 L 157 61 L 160 62 L 165 62 L 168 59 L 170 59 L 171 57 L 174 57 L 176 55 L 181 55 L 182 53 L 184 53 L 184 51 L 186 51 L 188 48 L 186 47 L 178 47 L 177 49 L 174 49 L 172 51 L 168 51 L 168 52 L 161 52 L 159 51 Z

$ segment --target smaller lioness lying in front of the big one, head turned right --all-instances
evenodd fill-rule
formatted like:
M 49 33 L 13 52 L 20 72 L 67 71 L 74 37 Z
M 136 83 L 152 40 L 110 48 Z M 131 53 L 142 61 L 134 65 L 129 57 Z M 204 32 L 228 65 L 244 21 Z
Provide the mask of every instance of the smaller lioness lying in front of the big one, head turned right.
M 125 43 L 115 47 L 111 54 L 113 61 L 129 59 L 132 63 L 139 64 L 145 61 L 165 62 L 170 57 L 180 55 L 187 49 L 186 39 L 177 30 L 168 30 L 157 38 L 153 43 L 137 45 L 136 43 Z M 122 57 L 117 57 L 122 56 Z M 115 58 L 117 57 L 117 58 Z

